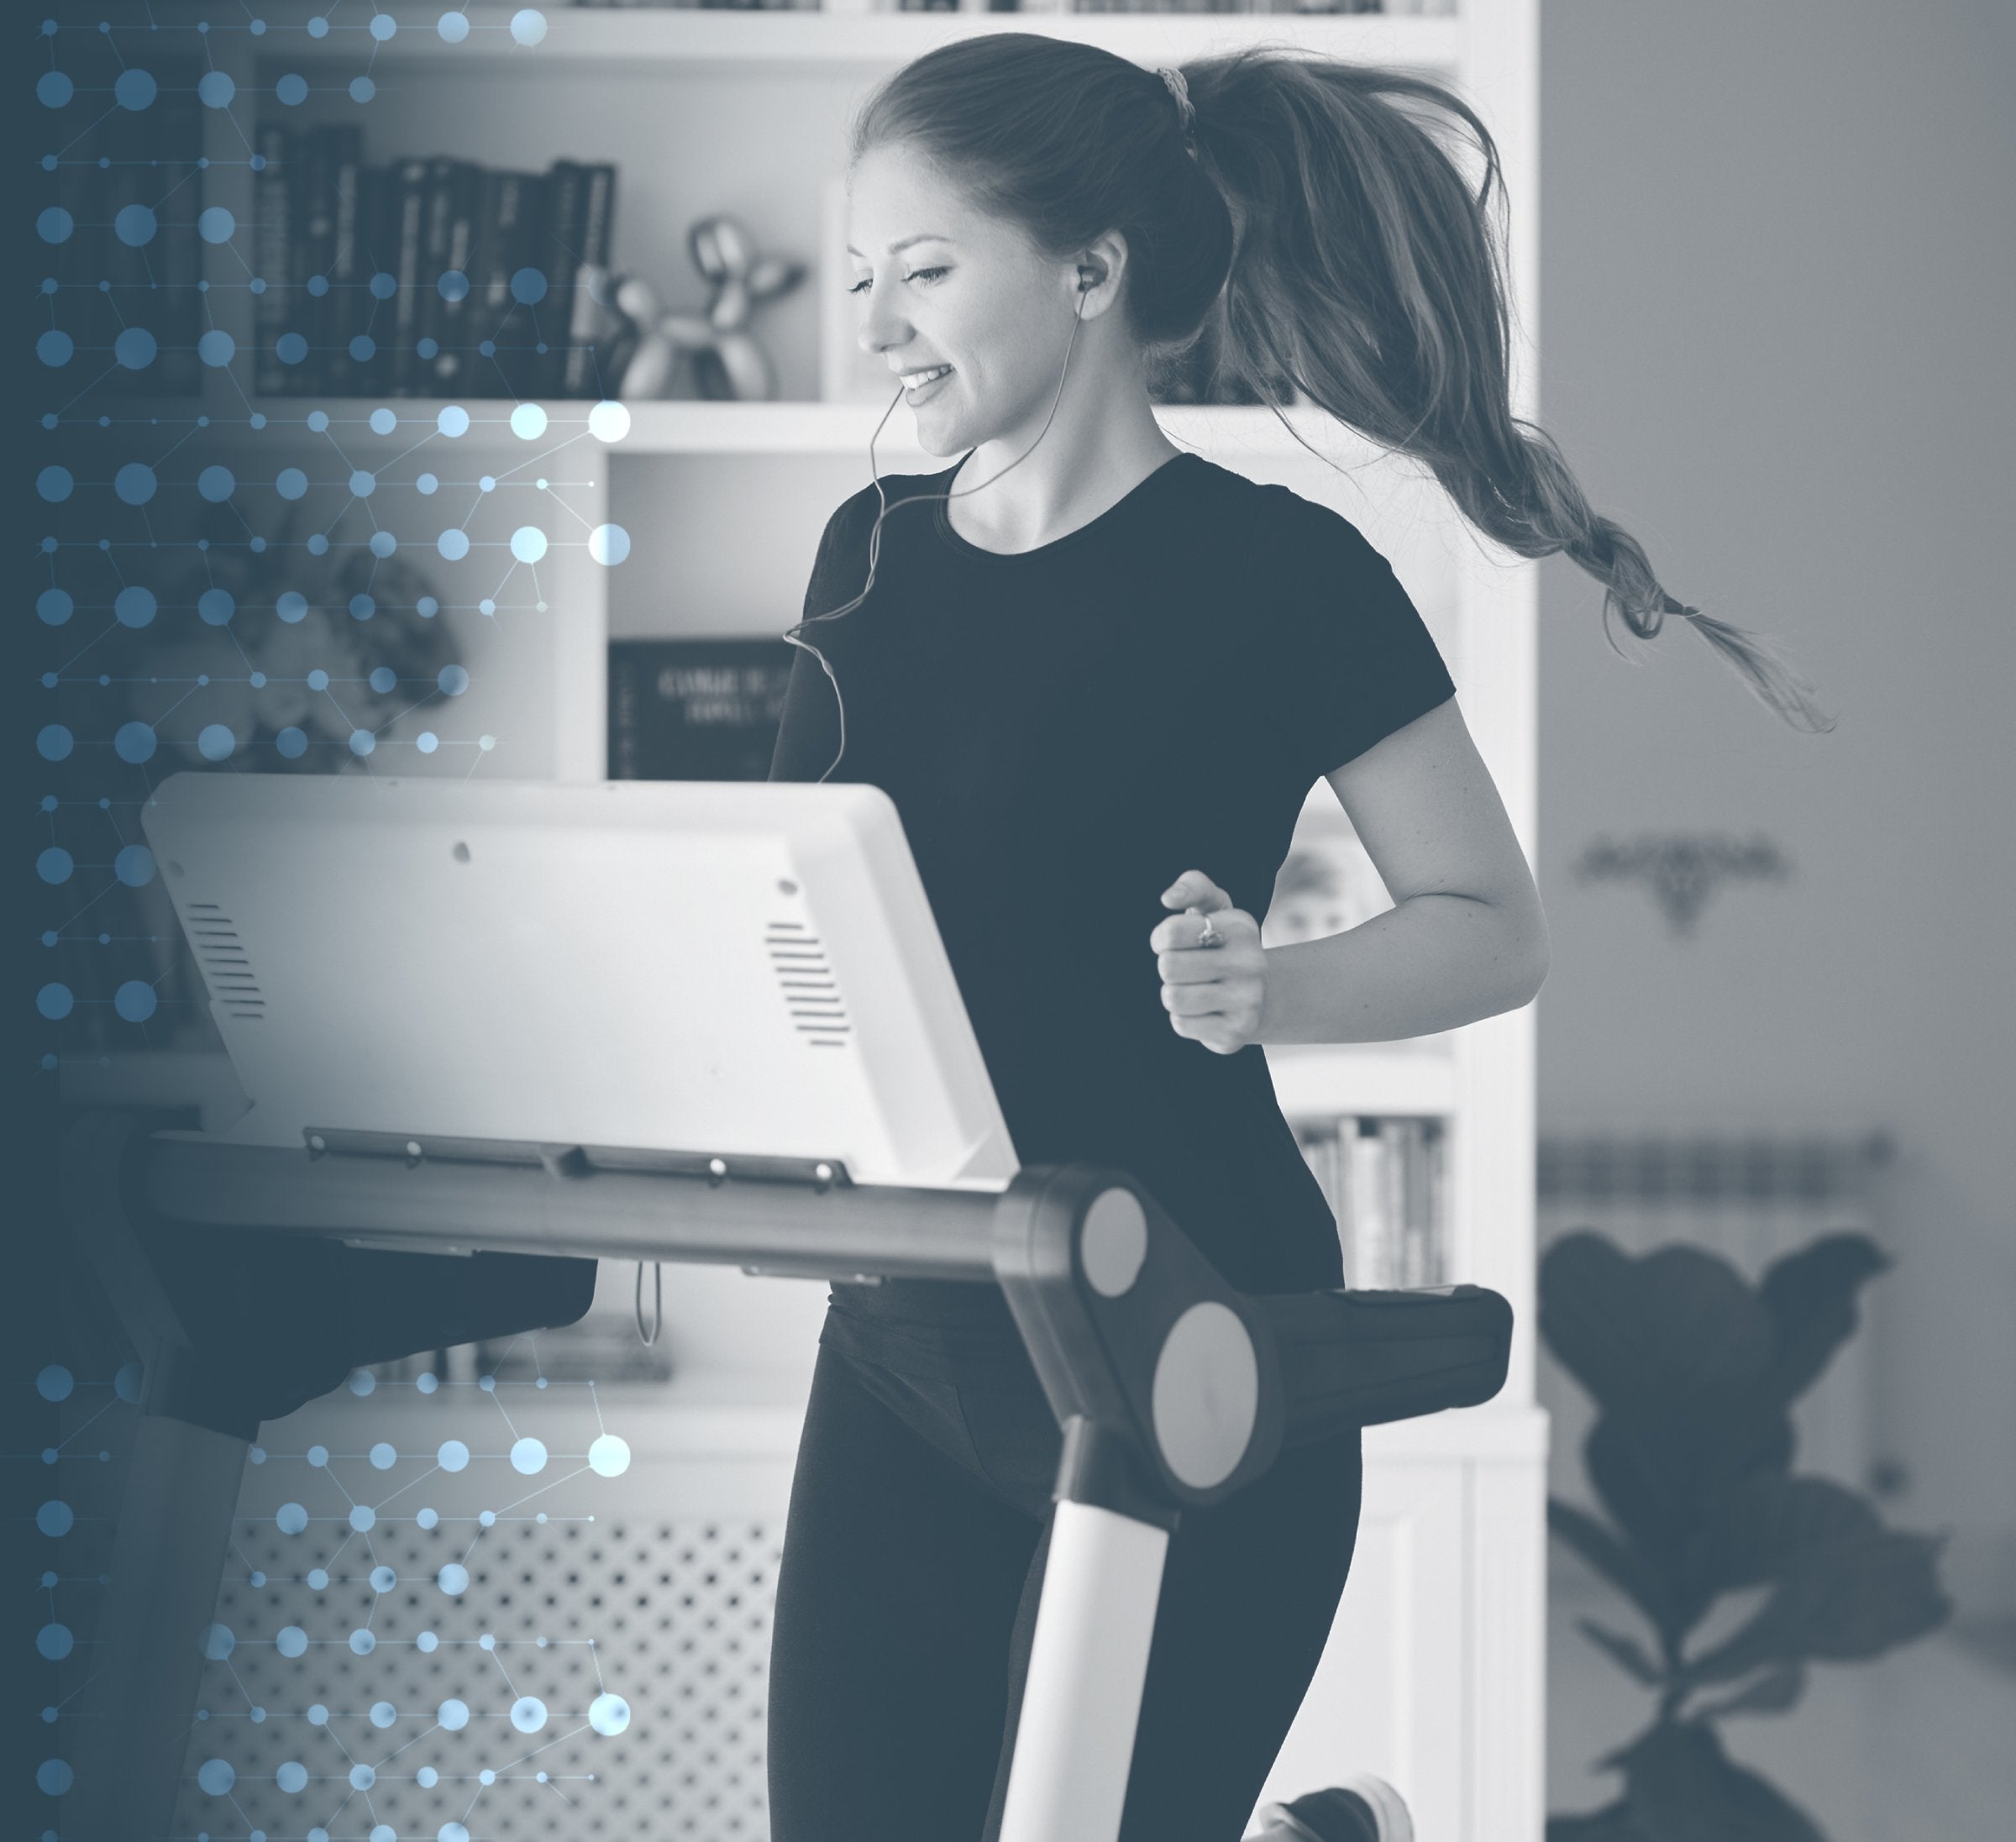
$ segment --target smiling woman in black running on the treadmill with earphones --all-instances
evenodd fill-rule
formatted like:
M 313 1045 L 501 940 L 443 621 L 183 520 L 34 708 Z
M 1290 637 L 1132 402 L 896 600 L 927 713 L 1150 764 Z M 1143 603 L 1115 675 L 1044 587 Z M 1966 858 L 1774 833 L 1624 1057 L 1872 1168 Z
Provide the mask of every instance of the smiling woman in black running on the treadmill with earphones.
M 1401 103 L 1468 123 L 1478 198 Z M 794 637 L 770 778 L 841 770 L 897 804 L 1022 1163 L 1131 1171 L 1248 1292 L 1345 1284 L 1258 1046 L 1522 1006 L 1546 923 L 1385 558 L 1173 447 L 1159 361 L 1214 337 L 1250 393 L 1286 379 L 1425 459 L 1480 530 L 1564 550 L 1643 637 L 1685 615 L 1824 728 L 1510 415 L 1496 169 L 1421 79 L 1272 50 L 1153 73 L 1022 32 L 907 64 L 851 137 L 861 345 L 960 459 L 829 520 L 792 635 L 831 625 Z M 1262 949 L 1316 778 L 1395 907 Z M 835 1286 L 774 1608 L 774 1842 L 994 1842 L 1058 1445 L 994 1288 Z M 1359 1487 L 1353 1433 L 1183 1516 L 1121 1842 L 1236 1842 L 1329 1638 Z M 1407 1824 L 1377 1782 L 1262 1818 L 1322 1842 Z

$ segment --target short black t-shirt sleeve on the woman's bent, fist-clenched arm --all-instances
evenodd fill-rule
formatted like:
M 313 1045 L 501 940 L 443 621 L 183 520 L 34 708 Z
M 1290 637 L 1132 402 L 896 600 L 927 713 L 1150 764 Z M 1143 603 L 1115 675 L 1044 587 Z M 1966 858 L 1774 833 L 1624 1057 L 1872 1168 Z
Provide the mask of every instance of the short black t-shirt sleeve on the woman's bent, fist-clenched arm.
M 1302 786 L 1456 695 L 1456 679 L 1393 566 L 1343 514 L 1290 498 L 1276 584 L 1276 657 L 1262 709 Z

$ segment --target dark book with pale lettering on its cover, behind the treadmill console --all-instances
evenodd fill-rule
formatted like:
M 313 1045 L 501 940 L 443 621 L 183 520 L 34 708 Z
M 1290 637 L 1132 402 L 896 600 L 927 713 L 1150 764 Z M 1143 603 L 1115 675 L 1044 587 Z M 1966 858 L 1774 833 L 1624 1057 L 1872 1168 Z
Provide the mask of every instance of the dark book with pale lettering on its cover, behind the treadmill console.
M 784 719 L 784 639 L 609 643 L 611 780 L 766 780 Z

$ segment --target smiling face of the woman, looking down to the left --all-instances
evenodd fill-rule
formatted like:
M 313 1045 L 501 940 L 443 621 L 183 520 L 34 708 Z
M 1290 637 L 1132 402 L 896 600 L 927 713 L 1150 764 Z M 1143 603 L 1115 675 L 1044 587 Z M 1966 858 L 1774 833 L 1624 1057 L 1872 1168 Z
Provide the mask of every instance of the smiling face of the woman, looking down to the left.
M 1070 347 L 1077 264 L 1038 256 L 915 153 L 879 147 L 853 167 L 847 244 L 861 349 L 891 373 L 952 367 L 937 383 L 903 391 L 925 453 L 1034 433 L 1056 397 L 1066 351 L 1073 375 L 1083 375 L 1091 359 L 1085 326 Z

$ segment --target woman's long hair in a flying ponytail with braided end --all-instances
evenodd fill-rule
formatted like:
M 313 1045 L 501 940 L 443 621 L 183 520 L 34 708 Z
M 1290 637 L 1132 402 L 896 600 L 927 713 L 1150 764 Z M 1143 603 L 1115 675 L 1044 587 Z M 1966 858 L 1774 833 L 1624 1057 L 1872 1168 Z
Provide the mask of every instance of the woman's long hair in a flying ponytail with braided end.
M 1637 540 L 1591 510 L 1554 441 L 1512 413 L 1506 191 L 1470 105 L 1423 77 L 1292 46 L 1198 58 L 1181 77 L 1193 117 L 1153 71 L 1097 46 L 956 38 L 869 95 L 849 163 L 911 149 L 1058 262 L 1117 230 L 1121 310 L 1151 361 L 1208 341 L 1218 377 L 1290 435 L 1280 397 L 1298 393 L 1425 462 L 1504 548 L 1570 556 L 1603 582 L 1613 651 L 1613 613 L 1639 639 L 1681 615 L 1792 728 L 1833 730 L 1774 643 L 1673 601 Z M 1433 115 L 1407 105 L 1476 137 L 1476 193 Z

